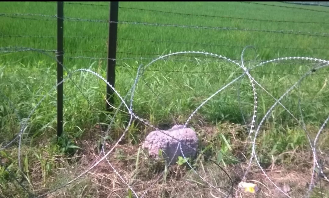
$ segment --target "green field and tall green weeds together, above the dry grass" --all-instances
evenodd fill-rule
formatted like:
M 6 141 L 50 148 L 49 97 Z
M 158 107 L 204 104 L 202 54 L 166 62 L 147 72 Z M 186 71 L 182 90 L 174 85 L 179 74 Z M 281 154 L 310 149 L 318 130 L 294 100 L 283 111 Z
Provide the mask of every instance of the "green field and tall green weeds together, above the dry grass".
M 108 5 L 106 2 L 94 2 L 94 4 Z M 3 5 L 6 6 L 0 8 L 2 13 L 41 13 L 46 15 L 56 14 L 57 6 L 54 2 L 4 2 Z M 126 9 L 141 8 L 266 20 L 324 22 L 326 19 L 326 14 L 323 12 L 239 2 L 120 2 L 120 7 L 122 7 L 119 10 L 120 21 L 303 32 L 326 32 L 328 30 L 327 24 L 264 22 Z M 109 9 L 107 6 L 64 4 L 64 15 L 66 17 L 83 19 L 107 19 Z M 29 16 L 24 17 L 29 18 Z M 43 17 L 38 16 L 33 16 L 33 18 L 43 19 Z M 3 36 L 0 38 L 2 47 L 23 46 L 38 49 L 56 49 L 56 20 L 29 20 L 3 16 L 2 19 L 0 22 L 2 35 L 45 36 L 45 38 Z M 66 51 L 64 64 L 66 68 L 72 70 L 90 67 L 105 77 L 106 60 L 70 59 L 69 57 L 106 58 L 108 23 L 84 21 L 65 21 L 64 23 L 64 50 Z M 46 38 L 47 36 L 52 37 Z M 243 46 L 253 45 L 257 49 L 257 55 L 251 50 L 247 50 L 245 59 L 268 60 L 282 56 L 311 56 L 326 59 L 328 57 L 327 50 L 325 50 L 327 39 L 327 37 L 278 33 L 119 24 L 115 87 L 119 93 L 125 95 L 134 82 L 136 68 L 140 63 L 146 64 L 150 61 L 141 61 L 138 58 L 151 59 L 156 57 L 148 54 L 166 54 L 175 51 L 194 50 L 222 54 L 231 59 L 240 59 Z M 151 42 L 152 40 L 161 42 Z M 230 47 L 225 47 L 225 45 Z M 274 49 L 266 47 L 274 47 Z M 312 50 L 311 48 L 320 49 Z M 78 53 L 77 51 L 100 52 Z M 187 56 L 191 55 L 187 54 Z M 120 59 L 127 57 L 136 59 L 120 61 Z M 214 62 L 215 59 L 203 55 L 198 55 L 196 58 L 178 55 L 170 59 L 180 59 L 180 61 L 158 61 L 144 72 L 143 78 L 138 83 L 134 98 L 134 111 L 145 118 L 152 117 L 155 122 L 173 122 L 176 118 L 185 119 L 210 94 L 242 73 L 237 66 L 222 61 Z M 22 117 L 25 117 L 29 110 L 33 108 L 33 105 L 38 103 L 41 96 L 55 85 L 56 64 L 54 64 L 54 60 L 44 54 L 37 52 L 2 54 L 1 65 L 1 90 L 13 101 L 15 108 L 19 110 Z M 310 68 L 311 64 L 308 62 L 296 61 L 270 64 L 254 69 L 252 75 L 274 97 L 279 98 Z M 283 104 L 297 116 L 299 114 L 297 100 L 299 96 L 302 98 L 301 105 L 306 121 L 312 123 L 321 122 L 329 112 L 326 103 L 326 98 L 328 97 L 326 86 L 328 74 L 326 72 L 328 72 L 328 69 L 321 69 L 308 77 L 296 91 L 291 93 L 291 96 L 283 100 Z M 88 96 L 92 107 L 90 107 L 86 98 L 74 87 L 72 82 L 64 83 L 64 113 L 67 122 L 65 127 L 72 128 L 72 130 L 74 126 L 80 126 L 81 124 L 92 126 L 92 123 L 98 120 L 94 110 L 97 109 L 97 112 L 100 113 L 104 110 L 105 105 L 102 95 L 105 92 L 104 83 L 90 74 L 74 75 L 73 79 L 78 82 L 80 89 Z M 239 87 L 240 102 L 237 97 Z M 54 125 L 54 116 L 56 115 L 55 94 L 56 92 L 51 93 L 35 113 L 35 119 L 33 120 L 36 123 L 33 126 L 36 129 L 44 130 L 46 123 L 49 123 L 50 126 Z M 274 103 L 274 100 L 266 93 L 263 93 L 259 87 L 258 94 L 260 108 L 258 118 L 261 118 L 261 115 L 266 113 L 266 110 Z M 4 98 L 2 99 L 5 101 Z M 248 79 L 245 77 L 241 81 L 241 85 L 235 83 L 232 87 L 218 94 L 199 113 L 210 122 L 229 120 L 243 123 L 243 117 L 249 119 L 251 116 L 252 105 L 252 90 Z M 9 106 L 6 107 L 9 108 Z M 279 119 L 280 123 L 294 123 L 288 113 L 280 108 L 277 107 L 273 111 L 271 118 L 273 120 Z M 38 111 L 40 111 L 41 115 Z M 6 113 L 3 113 L 3 115 L 8 116 Z M 2 124 L 2 127 L 5 126 L 5 124 Z M 7 134 L 8 130 L 2 131 Z M 76 130 L 73 131 L 76 132 Z

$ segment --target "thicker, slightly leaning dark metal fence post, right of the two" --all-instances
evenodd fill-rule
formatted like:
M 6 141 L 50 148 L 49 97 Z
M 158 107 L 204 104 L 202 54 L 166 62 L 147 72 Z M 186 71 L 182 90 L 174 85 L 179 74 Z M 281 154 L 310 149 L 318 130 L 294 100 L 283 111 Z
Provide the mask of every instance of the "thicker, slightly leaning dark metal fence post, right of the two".
M 110 22 L 109 22 L 109 48 L 108 48 L 108 61 L 107 61 L 107 81 L 114 87 L 115 83 L 115 57 L 116 57 L 116 35 L 118 29 L 118 10 L 119 2 L 110 2 Z M 114 105 L 114 91 L 107 85 L 106 87 L 106 99 Z M 112 111 L 111 106 L 106 103 L 106 110 Z

